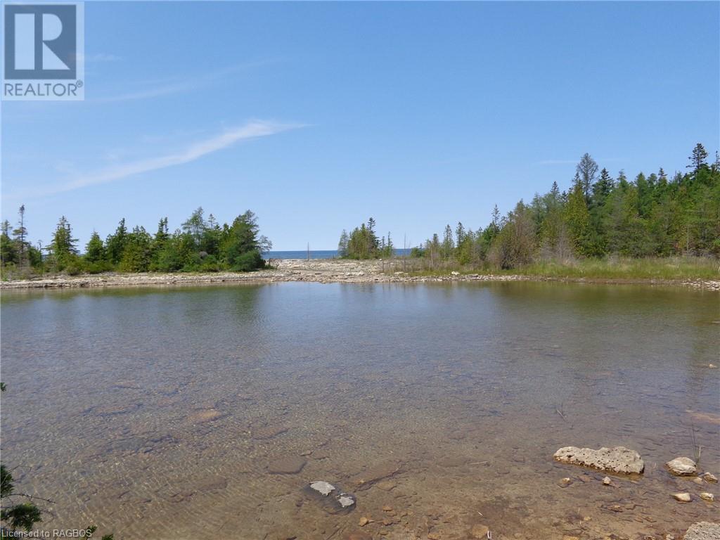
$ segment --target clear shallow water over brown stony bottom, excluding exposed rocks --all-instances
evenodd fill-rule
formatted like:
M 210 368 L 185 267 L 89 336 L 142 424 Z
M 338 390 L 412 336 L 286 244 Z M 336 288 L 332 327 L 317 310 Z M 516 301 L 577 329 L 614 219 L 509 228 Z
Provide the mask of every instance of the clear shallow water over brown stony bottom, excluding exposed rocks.
M 662 464 L 693 455 L 694 428 L 701 471 L 720 475 L 719 299 L 540 283 L 4 292 L 2 458 L 55 501 L 45 528 L 118 539 L 467 539 L 480 523 L 495 540 L 664 538 L 718 517 L 697 496 L 717 484 Z M 567 445 L 628 446 L 646 472 L 603 486 L 553 462 Z M 306 464 L 269 472 L 287 457 Z M 333 513 L 314 480 L 356 509 Z

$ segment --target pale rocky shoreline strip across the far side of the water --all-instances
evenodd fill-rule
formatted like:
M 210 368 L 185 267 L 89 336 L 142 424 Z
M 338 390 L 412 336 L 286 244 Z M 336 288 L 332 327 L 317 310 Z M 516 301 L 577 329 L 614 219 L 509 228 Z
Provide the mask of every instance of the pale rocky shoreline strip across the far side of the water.
M 96 274 L 53 276 L 0 282 L 0 289 L 73 289 L 91 287 L 153 287 L 167 285 L 221 283 L 426 283 L 426 282 L 575 282 L 598 284 L 674 285 L 720 291 L 720 279 L 586 279 L 523 276 L 513 274 L 412 275 L 402 271 L 402 263 L 393 261 L 341 261 L 336 259 L 281 259 L 272 261 L 273 269 L 248 273 L 216 272 L 207 274 Z

